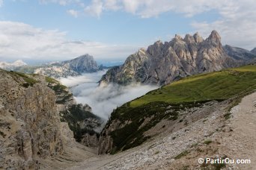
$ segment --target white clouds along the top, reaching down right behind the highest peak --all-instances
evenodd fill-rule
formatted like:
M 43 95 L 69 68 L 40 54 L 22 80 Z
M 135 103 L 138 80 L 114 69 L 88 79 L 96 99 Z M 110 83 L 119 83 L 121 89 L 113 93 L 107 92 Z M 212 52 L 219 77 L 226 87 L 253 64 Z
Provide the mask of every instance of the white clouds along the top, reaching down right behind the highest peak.
M 64 0 L 55 2 L 60 4 L 61 1 Z M 184 17 L 191 18 L 193 33 L 198 31 L 207 37 L 215 29 L 221 34 L 223 44 L 249 50 L 255 48 L 255 0 L 91 0 L 83 5 L 81 2 L 80 0 L 73 1 L 73 4 L 76 4 L 76 10 L 97 18 L 109 11 L 131 13 L 141 18 L 158 17 L 168 12 L 180 13 Z M 193 19 L 193 16 L 207 15 L 207 12 L 214 12 L 219 16 L 213 21 L 199 22 Z

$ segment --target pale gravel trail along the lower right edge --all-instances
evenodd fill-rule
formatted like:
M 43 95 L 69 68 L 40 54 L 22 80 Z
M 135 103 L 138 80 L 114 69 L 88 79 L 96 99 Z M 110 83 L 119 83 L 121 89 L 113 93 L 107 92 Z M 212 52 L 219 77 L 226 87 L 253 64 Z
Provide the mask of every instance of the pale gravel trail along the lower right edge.
M 256 169 L 256 92 L 243 98 L 231 113 L 228 125 L 233 133 L 222 140 L 225 145 L 220 151 L 232 155 L 235 160 L 251 160 L 250 164 L 234 165 L 234 168 Z

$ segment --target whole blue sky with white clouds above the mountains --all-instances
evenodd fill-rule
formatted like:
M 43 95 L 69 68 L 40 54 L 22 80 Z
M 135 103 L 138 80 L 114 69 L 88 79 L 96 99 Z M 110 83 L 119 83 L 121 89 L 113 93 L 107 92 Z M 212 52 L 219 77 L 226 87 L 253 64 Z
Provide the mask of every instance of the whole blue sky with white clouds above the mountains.
M 120 62 L 157 40 L 212 30 L 256 47 L 255 0 L 0 0 L 0 61 Z

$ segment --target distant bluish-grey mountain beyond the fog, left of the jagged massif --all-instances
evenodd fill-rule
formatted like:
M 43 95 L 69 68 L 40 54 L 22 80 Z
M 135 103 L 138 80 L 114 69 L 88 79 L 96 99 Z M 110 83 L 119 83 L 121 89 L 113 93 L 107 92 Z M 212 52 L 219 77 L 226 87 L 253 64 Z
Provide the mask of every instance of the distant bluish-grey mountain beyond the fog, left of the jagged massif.
M 34 68 L 35 74 L 47 75 L 52 78 L 81 75 L 85 72 L 97 72 L 100 70 L 94 57 L 89 54 L 76 57 L 73 60 L 51 63 Z M 18 70 L 19 71 L 19 70 Z

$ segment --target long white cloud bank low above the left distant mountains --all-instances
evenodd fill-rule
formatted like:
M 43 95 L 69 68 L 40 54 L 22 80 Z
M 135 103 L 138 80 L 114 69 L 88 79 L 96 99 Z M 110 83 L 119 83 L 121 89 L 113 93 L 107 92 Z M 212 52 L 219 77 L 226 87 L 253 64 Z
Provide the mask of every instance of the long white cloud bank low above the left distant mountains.
M 66 32 L 43 30 L 21 22 L 0 22 L 0 59 L 67 60 L 82 54 L 96 59 L 125 59 L 138 50 L 132 45 L 70 41 Z

